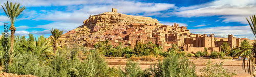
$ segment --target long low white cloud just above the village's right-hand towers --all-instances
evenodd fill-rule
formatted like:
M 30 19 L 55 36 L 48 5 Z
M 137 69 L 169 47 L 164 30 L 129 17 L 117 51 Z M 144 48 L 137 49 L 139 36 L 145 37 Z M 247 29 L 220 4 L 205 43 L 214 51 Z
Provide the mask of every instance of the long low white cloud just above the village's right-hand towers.
M 228 37 L 229 34 L 236 35 L 237 38 L 247 37 L 251 40 L 254 35 L 249 25 L 247 26 L 218 26 L 200 29 L 190 29 L 191 33 L 195 34 L 214 34 L 215 36 Z

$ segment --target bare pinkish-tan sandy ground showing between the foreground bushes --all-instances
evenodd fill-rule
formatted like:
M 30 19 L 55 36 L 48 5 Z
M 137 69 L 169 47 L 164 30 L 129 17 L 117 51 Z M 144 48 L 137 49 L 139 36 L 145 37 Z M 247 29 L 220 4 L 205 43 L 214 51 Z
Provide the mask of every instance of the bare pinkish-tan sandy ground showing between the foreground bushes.
M 127 58 L 123 58 L 123 57 L 105 57 L 106 61 L 108 61 L 108 65 L 109 67 L 118 67 L 119 65 L 121 65 L 121 67 L 125 67 L 126 66 L 126 62 Z M 201 68 L 205 67 L 206 62 L 208 62 L 210 60 L 210 58 L 207 57 L 199 57 L 199 58 L 189 58 L 190 61 L 193 61 L 196 65 L 196 74 L 198 76 L 201 76 L 201 72 L 199 71 Z M 239 77 L 247 77 L 247 76 L 251 76 L 250 74 L 248 74 L 248 72 L 244 71 L 242 68 L 242 60 L 238 60 L 238 59 L 211 59 L 212 63 L 221 63 L 222 61 L 224 61 L 223 67 L 225 69 L 228 69 L 229 72 L 234 72 L 237 75 L 235 76 L 239 76 Z M 142 70 L 145 70 L 146 68 L 148 68 L 150 66 L 150 64 L 152 63 L 156 63 L 158 61 L 135 61 L 137 63 L 140 63 L 140 67 L 142 68 Z M 246 61 L 247 63 L 247 61 Z M 246 67 L 247 68 L 247 67 Z

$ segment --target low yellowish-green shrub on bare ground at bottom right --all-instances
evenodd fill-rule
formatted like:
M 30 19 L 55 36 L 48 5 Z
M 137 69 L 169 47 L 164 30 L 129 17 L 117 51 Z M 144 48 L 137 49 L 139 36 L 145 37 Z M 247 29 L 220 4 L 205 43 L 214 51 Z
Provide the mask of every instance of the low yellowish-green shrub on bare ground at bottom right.
M 224 62 L 221 62 L 221 64 L 212 64 L 211 60 L 207 62 L 207 65 L 200 69 L 200 72 L 202 72 L 203 76 L 233 76 L 236 75 L 233 72 L 228 72 L 228 69 L 225 69 L 222 67 Z

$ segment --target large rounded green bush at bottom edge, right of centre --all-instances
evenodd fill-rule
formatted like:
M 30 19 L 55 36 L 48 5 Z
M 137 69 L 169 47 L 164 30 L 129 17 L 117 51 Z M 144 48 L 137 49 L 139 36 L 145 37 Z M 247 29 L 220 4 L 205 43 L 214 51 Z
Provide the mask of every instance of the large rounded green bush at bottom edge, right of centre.
M 147 72 L 153 76 L 196 76 L 195 64 L 186 57 L 179 59 L 174 54 L 166 57 L 163 62 L 151 65 Z

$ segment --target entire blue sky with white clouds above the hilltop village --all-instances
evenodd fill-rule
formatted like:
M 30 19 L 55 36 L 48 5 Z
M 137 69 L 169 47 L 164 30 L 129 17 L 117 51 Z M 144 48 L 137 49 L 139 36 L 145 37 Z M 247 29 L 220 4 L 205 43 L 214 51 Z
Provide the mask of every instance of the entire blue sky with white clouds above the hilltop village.
M 254 39 L 245 18 L 256 14 L 255 0 L 13 0 L 26 9 L 15 22 L 15 35 L 51 35 L 50 30 L 57 28 L 64 33 L 77 28 L 89 15 L 117 12 L 158 19 L 165 25 L 178 23 L 187 26 L 191 33 L 212 34 L 227 37 L 233 34 L 239 38 Z M 0 1 L 4 5 L 6 1 Z M 3 8 L 0 8 L 0 27 L 9 23 Z M 10 26 L 10 23 L 9 23 Z M 4 31 L 4 29 L 0 29 Z

